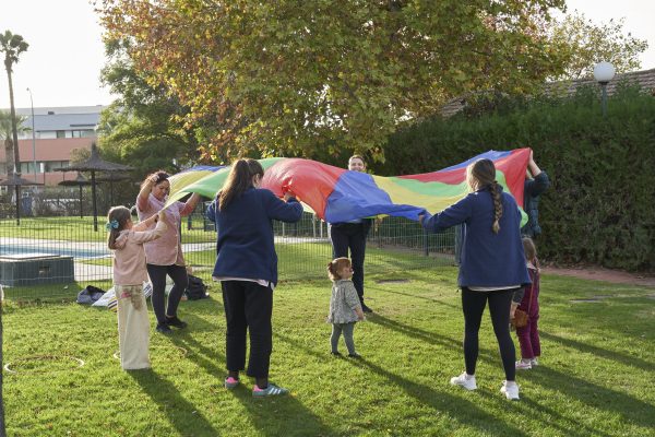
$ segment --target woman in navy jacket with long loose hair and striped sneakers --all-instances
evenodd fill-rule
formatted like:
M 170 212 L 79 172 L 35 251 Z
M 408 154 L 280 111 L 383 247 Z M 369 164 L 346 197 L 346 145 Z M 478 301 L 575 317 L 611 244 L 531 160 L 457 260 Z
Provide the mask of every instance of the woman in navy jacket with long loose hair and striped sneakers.
M 233 389 L 239 383 L 249 330 L 247 375 L 255 379 L 254 397 L 288 392 L 269 383 L 273 288 L 277 284 L 272 221 L 294 223 L 302 216 L 302 205 L 289 193 L 282 201 L 270 190 L 259 188 L 263 177 L 264 169 L 257 161 L 237 161 L 206 213 L 218 232 L 213 276 L 221 281 L 227 321 L 225 387 Z

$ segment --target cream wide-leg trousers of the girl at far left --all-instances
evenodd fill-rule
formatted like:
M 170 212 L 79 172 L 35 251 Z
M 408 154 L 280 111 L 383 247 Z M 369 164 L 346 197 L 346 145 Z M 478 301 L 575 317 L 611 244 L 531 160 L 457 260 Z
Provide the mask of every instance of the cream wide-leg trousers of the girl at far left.
M 142 285 L 116 285 L 120 365 L 126 370 L 150 368 L 150 320 Z

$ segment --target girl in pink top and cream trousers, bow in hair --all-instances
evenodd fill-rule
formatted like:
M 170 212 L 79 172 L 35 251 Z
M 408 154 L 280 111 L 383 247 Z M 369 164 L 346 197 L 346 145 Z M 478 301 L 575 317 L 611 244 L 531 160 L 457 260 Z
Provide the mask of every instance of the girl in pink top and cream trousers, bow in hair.
M 114 206 L 107 216 L 107 246 L 114 250 L 114 291 L 118 304 L 120 364 L 126 370 L 150 368 L 150 322 L 143 296 L 147 281 L 143 244 L 164 235 L 163 213 L 132 224 L 130 210 Z M 148 227 L 157 225 L 152 231 Z

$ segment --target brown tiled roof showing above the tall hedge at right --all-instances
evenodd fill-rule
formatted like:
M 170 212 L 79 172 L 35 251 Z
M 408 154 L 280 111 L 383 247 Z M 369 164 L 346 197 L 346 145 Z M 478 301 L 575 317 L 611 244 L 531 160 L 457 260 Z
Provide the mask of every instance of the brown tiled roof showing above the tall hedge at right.
M 626 81 L 630 84 L 639 84 L 643 90 L 651 92 L 655 95 L 655 69 L 651 70 L 642 70 L 642 71 L 633 71 L 630 73 L 617 74 L 609 83 L 607 84 L 607 94 L 612 95 L 617 88 L 617 85 Z M 597 82 L 594 79 L 577 79 L 574 81 L 560 81 L 560 82 L 549 82 L 545 85 L 546 94 L 560 94 L 560 95 L 571 95 L 575 93 L 577 88 L 584 85 L 595 85 Z M 467 99 L 475 94 L 480 94 L 485 92 L 478 93 L 467 93 L 462 96 L 455 97 L 449 101 L 445 105 L 443 105 L 439 109 L 439 114 L 443 118 L 449 118 L 454 116 L 466 106 Z

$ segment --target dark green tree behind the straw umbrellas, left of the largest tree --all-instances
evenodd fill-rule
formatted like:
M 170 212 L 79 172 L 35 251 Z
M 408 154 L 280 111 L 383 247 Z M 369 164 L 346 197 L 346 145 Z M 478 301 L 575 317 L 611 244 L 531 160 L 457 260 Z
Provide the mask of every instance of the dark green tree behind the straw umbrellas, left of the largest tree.
M 106 42 L 109 61 L 102 79 L 120 98 L 100 116 L 100 149 L 112 160 L 146 174 L 157 168 L 179 170 L 198 160 L 198 142 L 184 128 L 188 109 L 162 86 L 151 86 L 133 64 L 129 40 Z

